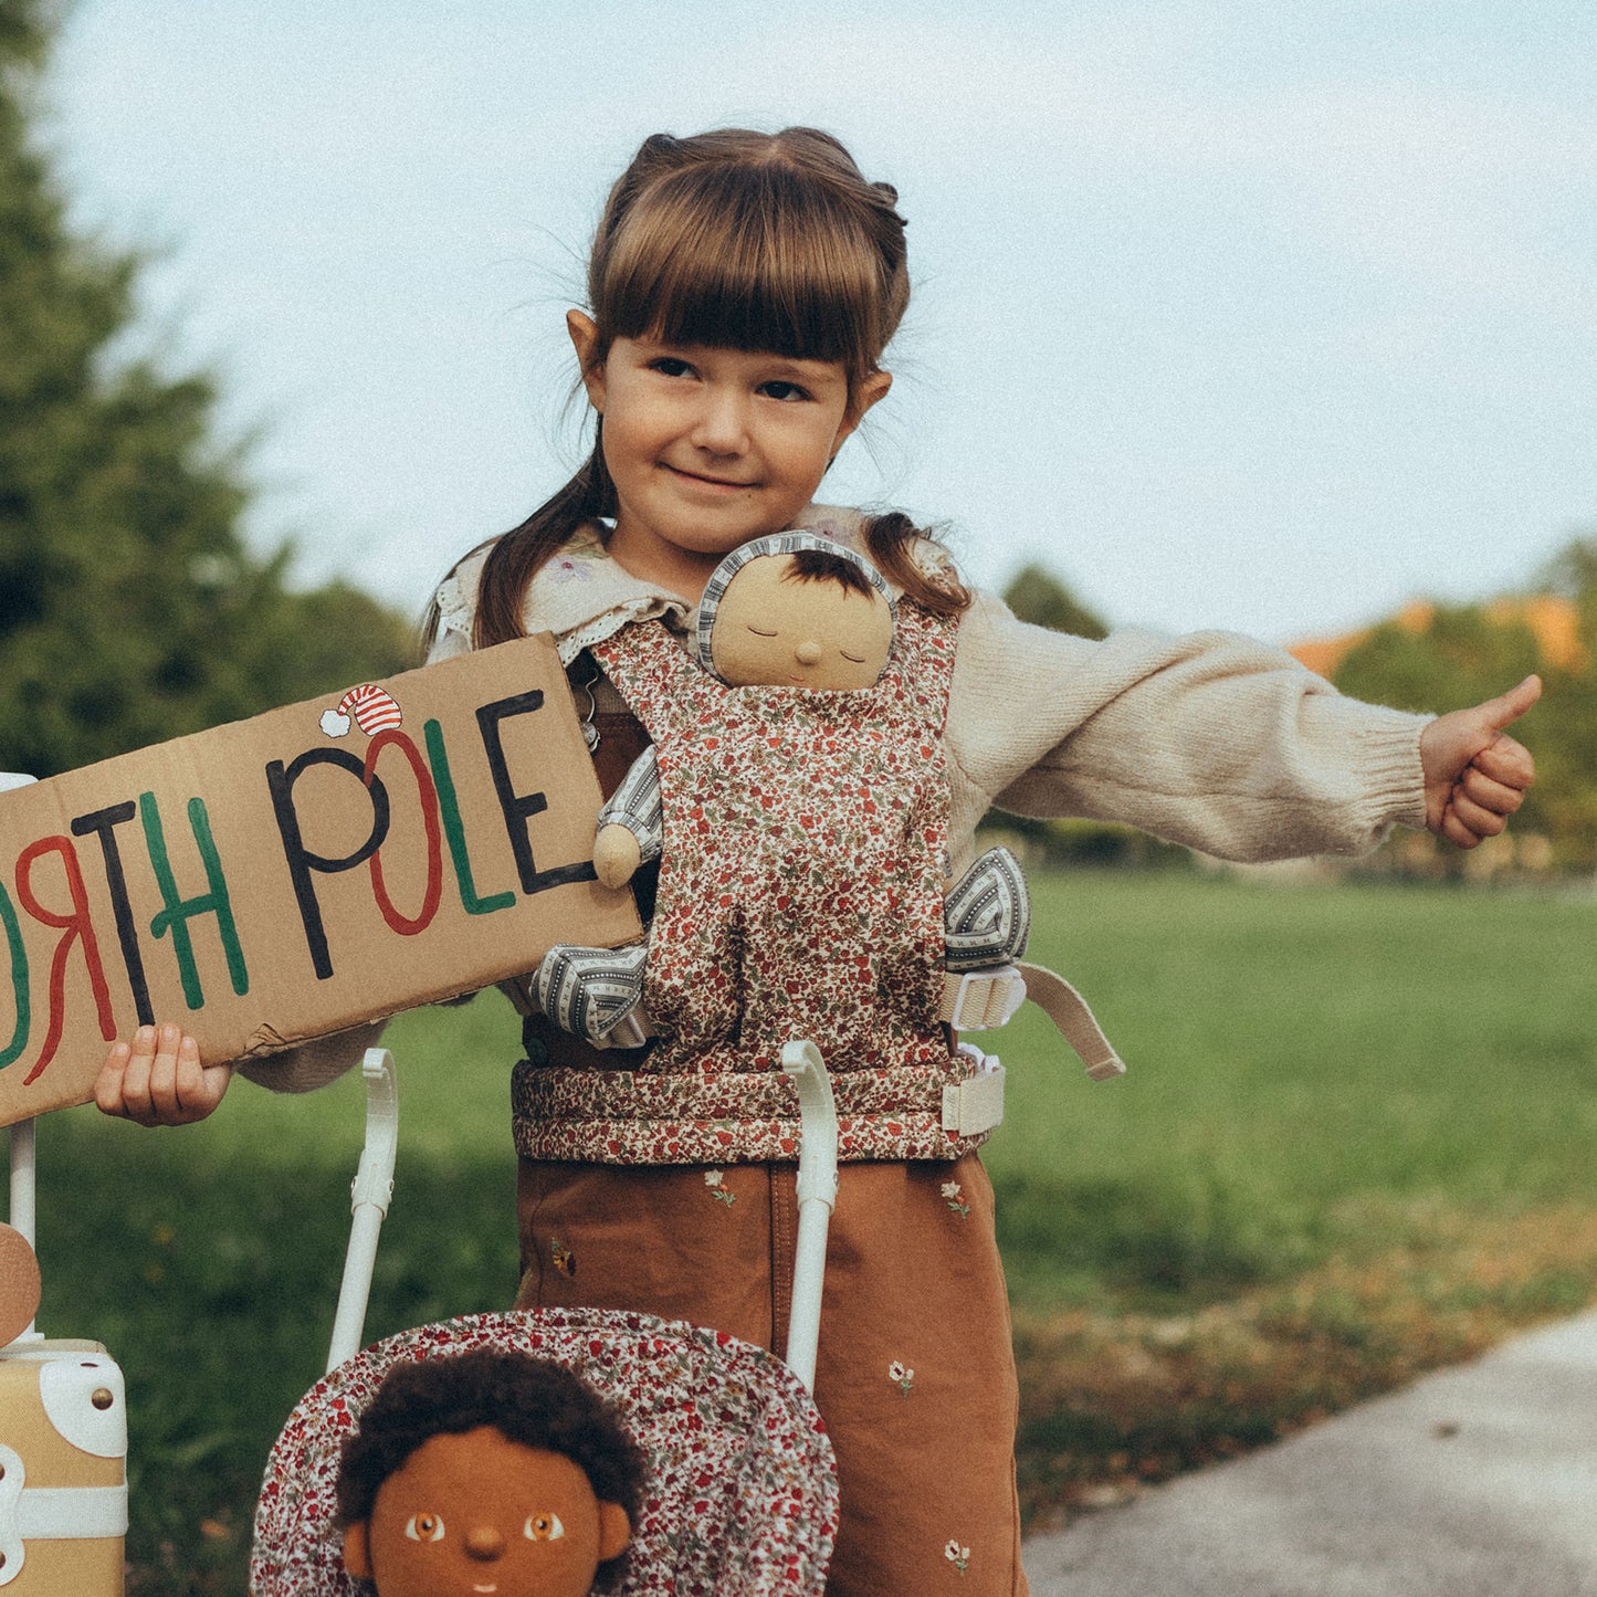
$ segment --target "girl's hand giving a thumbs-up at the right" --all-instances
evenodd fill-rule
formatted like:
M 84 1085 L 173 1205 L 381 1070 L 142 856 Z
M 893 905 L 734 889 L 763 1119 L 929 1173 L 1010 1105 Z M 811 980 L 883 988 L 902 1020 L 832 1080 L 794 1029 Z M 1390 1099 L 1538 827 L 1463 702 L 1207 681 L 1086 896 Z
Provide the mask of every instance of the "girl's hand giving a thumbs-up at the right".
M 1474 848 L 1484 837 L 1496 837 L 1525 802 L 1536 762 L 1503 728 L 1538 698 L 1541 677 L 1525 677 L 1500 698 L 1439 715 L 1420 733 L 1425 824 L 1437 837 Z

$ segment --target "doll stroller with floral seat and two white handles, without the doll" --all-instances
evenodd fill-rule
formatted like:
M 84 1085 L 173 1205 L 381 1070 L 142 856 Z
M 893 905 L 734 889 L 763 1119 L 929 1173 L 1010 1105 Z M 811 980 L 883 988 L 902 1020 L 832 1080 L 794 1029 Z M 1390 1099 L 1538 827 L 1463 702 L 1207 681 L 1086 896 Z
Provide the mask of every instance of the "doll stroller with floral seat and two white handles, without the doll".
M 805 1126 L 787 1359 L 725 1332 L 621 1310 L 545 1308 L 402 1330 L 361 1346 L 377 1238 L 393 1191 L 393 1057 L 366 1054 L 366 1147 L 327 1373 L 299 1401 L 267 1460 L 251 1597 L 359 1597 L 343 1568 L 343 1440 L 398 1364 L 481 1348 L 564 1364 L 602 1397 L 648 1461 L 623 1597 L 819 1594 L 837 1538 L 837 1464 L 810 1397 L 826 1231 L 837 1191 L 837 1110 L 821 1056 L 783 1051 Z

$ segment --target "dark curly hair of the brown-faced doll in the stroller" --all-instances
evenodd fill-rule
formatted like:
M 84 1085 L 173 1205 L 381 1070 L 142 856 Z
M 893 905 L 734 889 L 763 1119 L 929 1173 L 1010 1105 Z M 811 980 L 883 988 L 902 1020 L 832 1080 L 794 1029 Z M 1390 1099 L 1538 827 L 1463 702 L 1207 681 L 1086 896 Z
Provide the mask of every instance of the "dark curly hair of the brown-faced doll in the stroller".
M 484 1425 L 522 1447 L 569 1458 L 600 1503 L 620 1503 L 637 1525 L 648 1469 L 610 1404 L 564 1364 L 492 1348 L 388 1372 L 343 1444 L 339 1524 L 369 1520 L 383 1482 L 423 1442 Z M 624 1563 L 624 1551 L 600 1563 L 594 1591 L 608 1591 Z

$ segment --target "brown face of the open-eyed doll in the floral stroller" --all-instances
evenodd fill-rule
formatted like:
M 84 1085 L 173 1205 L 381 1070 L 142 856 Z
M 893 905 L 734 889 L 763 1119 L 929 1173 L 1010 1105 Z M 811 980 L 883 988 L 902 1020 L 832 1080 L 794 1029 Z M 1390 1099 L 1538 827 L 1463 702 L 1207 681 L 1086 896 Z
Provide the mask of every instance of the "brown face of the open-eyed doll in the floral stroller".
M 378 1597 L 586 1597 L 628 1538 L 581 1466 L 478 1426 L 423 1442 L 345 1532 L 343 1560 Z

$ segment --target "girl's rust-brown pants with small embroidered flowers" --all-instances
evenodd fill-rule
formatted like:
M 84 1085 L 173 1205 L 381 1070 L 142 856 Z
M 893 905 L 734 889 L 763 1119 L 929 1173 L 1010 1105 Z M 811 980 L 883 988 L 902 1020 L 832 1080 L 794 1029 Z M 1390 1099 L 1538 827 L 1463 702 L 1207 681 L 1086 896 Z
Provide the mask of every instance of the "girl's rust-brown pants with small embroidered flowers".
M 784 1351 L 794 1166 L 524 1159 L 519 1211 L 517 1308 L 640 1310 Z M 1024 1597 L 1014 1354 L 981 1159 L 842 1166 L 826 1271 L 829 1597 Z

